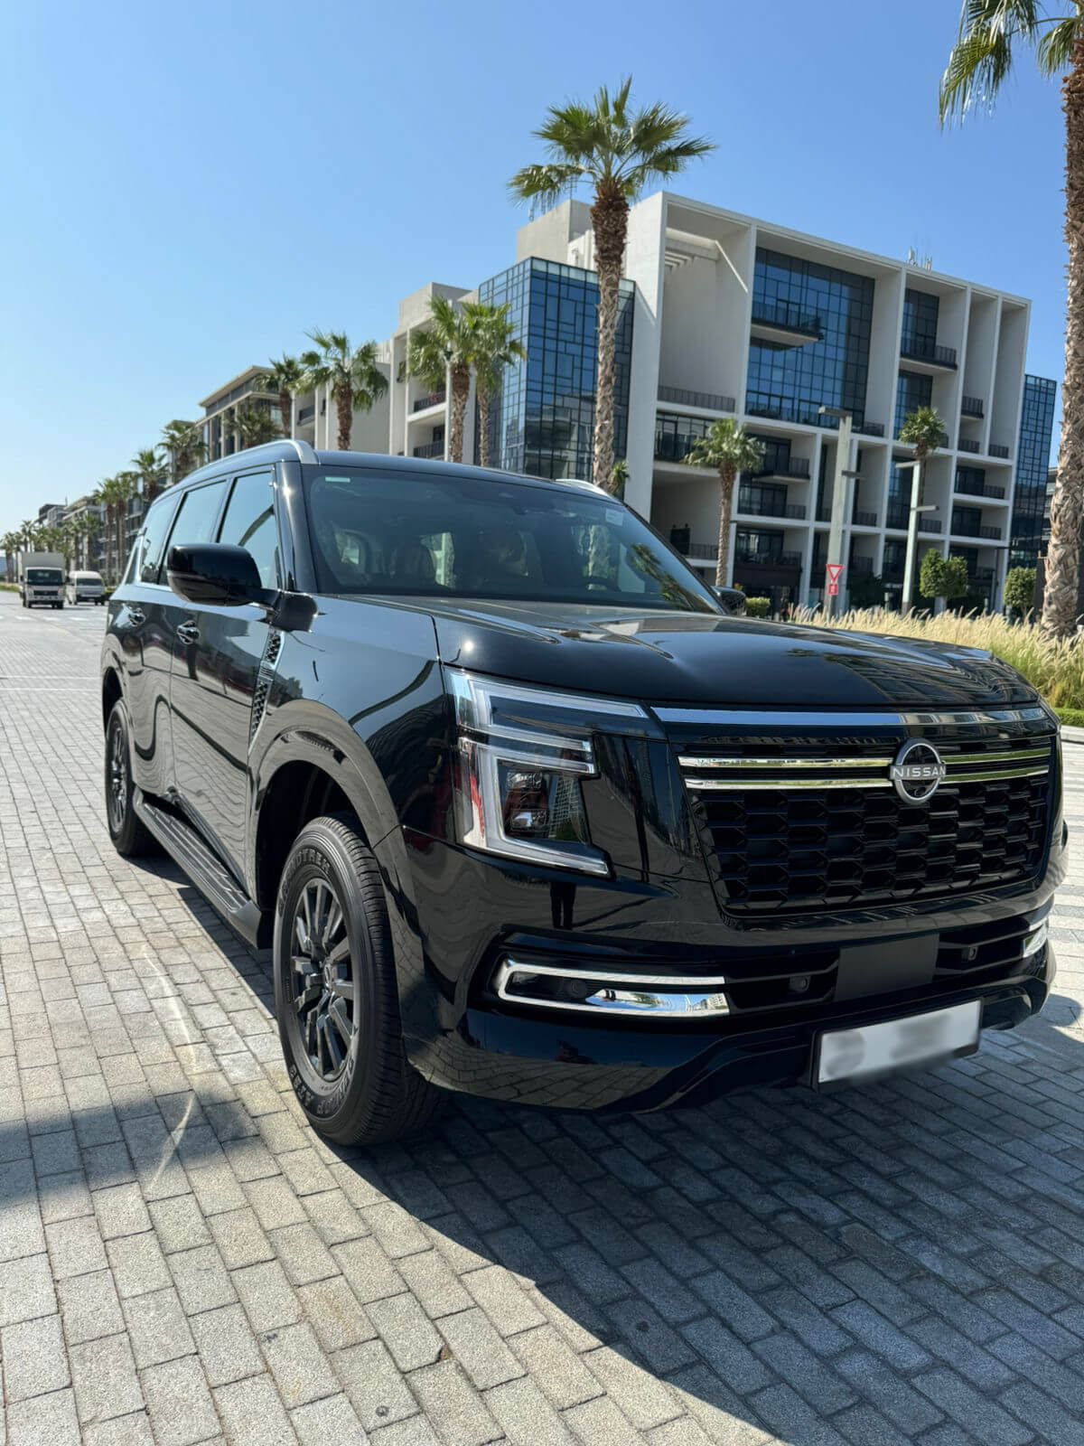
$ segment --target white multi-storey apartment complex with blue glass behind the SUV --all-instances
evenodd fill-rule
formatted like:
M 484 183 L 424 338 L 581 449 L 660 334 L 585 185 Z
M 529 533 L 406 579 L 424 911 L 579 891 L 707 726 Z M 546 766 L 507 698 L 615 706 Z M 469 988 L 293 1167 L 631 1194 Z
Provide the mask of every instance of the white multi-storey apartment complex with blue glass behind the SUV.
M 434 295 L 506 302 L 526 359 L 504 369 L 490 414 L 490 463 L 543 477 L 591 474 L 597 278 L 590 208 L 564 201 L 522 227 L 516 260 L 473 291 L 429 283 L 399 304 L 380 346 L 387 393 L 353 418 L 351 447 L 444 457 L 447 389 L 406 370 Z M 734 499 L 733 576 L 776 606 L 824 597 L 838 421 L 853 451 L 844 591 L 856 577 L 903 580 L 912 448 L 905 416 L 934 406 L 942 445 L 926 464 L 919 551 L 967 560 L 976 597 L 996 607 L 1013 561 L 1038 555 L 1055 383 L 1026 376 L 1029 302 L 993 286 L 876 256 L 685 197 L 656 192 L 630 211 L 617 333 L 617 454 L 626 500 L 714 576 L 718 482 L 688 453 L 731 416 L 765 447 Z M 202 405 L 211 455 L 233 450 L 231 406 L 278 399 L 259 369 Z M 215 432 L 215 419 L 220 419 Z M 221 435 L 220 435 L 221 434 Z M 295 403 L 295 434 L 334 447 L 328 396 Z M 468 406 L 464 455 L 478 455 Z

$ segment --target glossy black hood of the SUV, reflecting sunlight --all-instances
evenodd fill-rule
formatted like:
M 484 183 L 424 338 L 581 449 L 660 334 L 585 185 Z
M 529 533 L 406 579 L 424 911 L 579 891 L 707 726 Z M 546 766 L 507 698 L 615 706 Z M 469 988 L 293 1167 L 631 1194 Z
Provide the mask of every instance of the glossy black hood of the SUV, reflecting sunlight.
M 645 703 L 1005 707 L 1036 694 L 989 652 L 909 638 L 561 603 L 418 599 L 442 662 Z

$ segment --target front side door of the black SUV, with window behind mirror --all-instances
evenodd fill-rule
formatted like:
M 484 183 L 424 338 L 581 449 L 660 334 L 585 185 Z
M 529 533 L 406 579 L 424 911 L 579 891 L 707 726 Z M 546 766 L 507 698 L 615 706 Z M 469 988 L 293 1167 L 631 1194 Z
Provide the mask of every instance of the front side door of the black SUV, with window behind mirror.
M 210 541 L 185 534 L 176 542 Z M 282 587 L 282 551 L 270 469 L 231 479 L 212 539 L 244 547 L 263 586 Z M 249 733 L 269 625 L 262 607 L 182 604 L 169 684 L 176 788 L 194 823 L 240 876 L 249 811 Z

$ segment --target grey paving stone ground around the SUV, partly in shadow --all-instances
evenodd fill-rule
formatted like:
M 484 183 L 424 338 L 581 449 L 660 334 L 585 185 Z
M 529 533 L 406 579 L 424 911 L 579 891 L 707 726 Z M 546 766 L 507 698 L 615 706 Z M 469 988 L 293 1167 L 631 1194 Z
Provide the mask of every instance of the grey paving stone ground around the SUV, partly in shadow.
M 266 959 L 110 847 L 101 628 L 0 594 L 0 1446 L 1080 1446 L 1080 872 L 935 1074 L 337 1151 Z

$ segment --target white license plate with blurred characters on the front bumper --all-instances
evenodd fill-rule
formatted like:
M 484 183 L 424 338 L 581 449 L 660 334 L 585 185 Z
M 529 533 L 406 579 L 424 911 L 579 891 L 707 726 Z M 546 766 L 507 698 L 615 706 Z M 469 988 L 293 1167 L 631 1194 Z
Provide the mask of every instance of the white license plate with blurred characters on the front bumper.
M 864 1024 L 821 1035 L 817 1083 L 860 1080 L 890 1074 L 911 1064 L 937 1064 L 978 1048 L 981 1001 L 950 1009 L 912 1014 L 906 1019 Z

